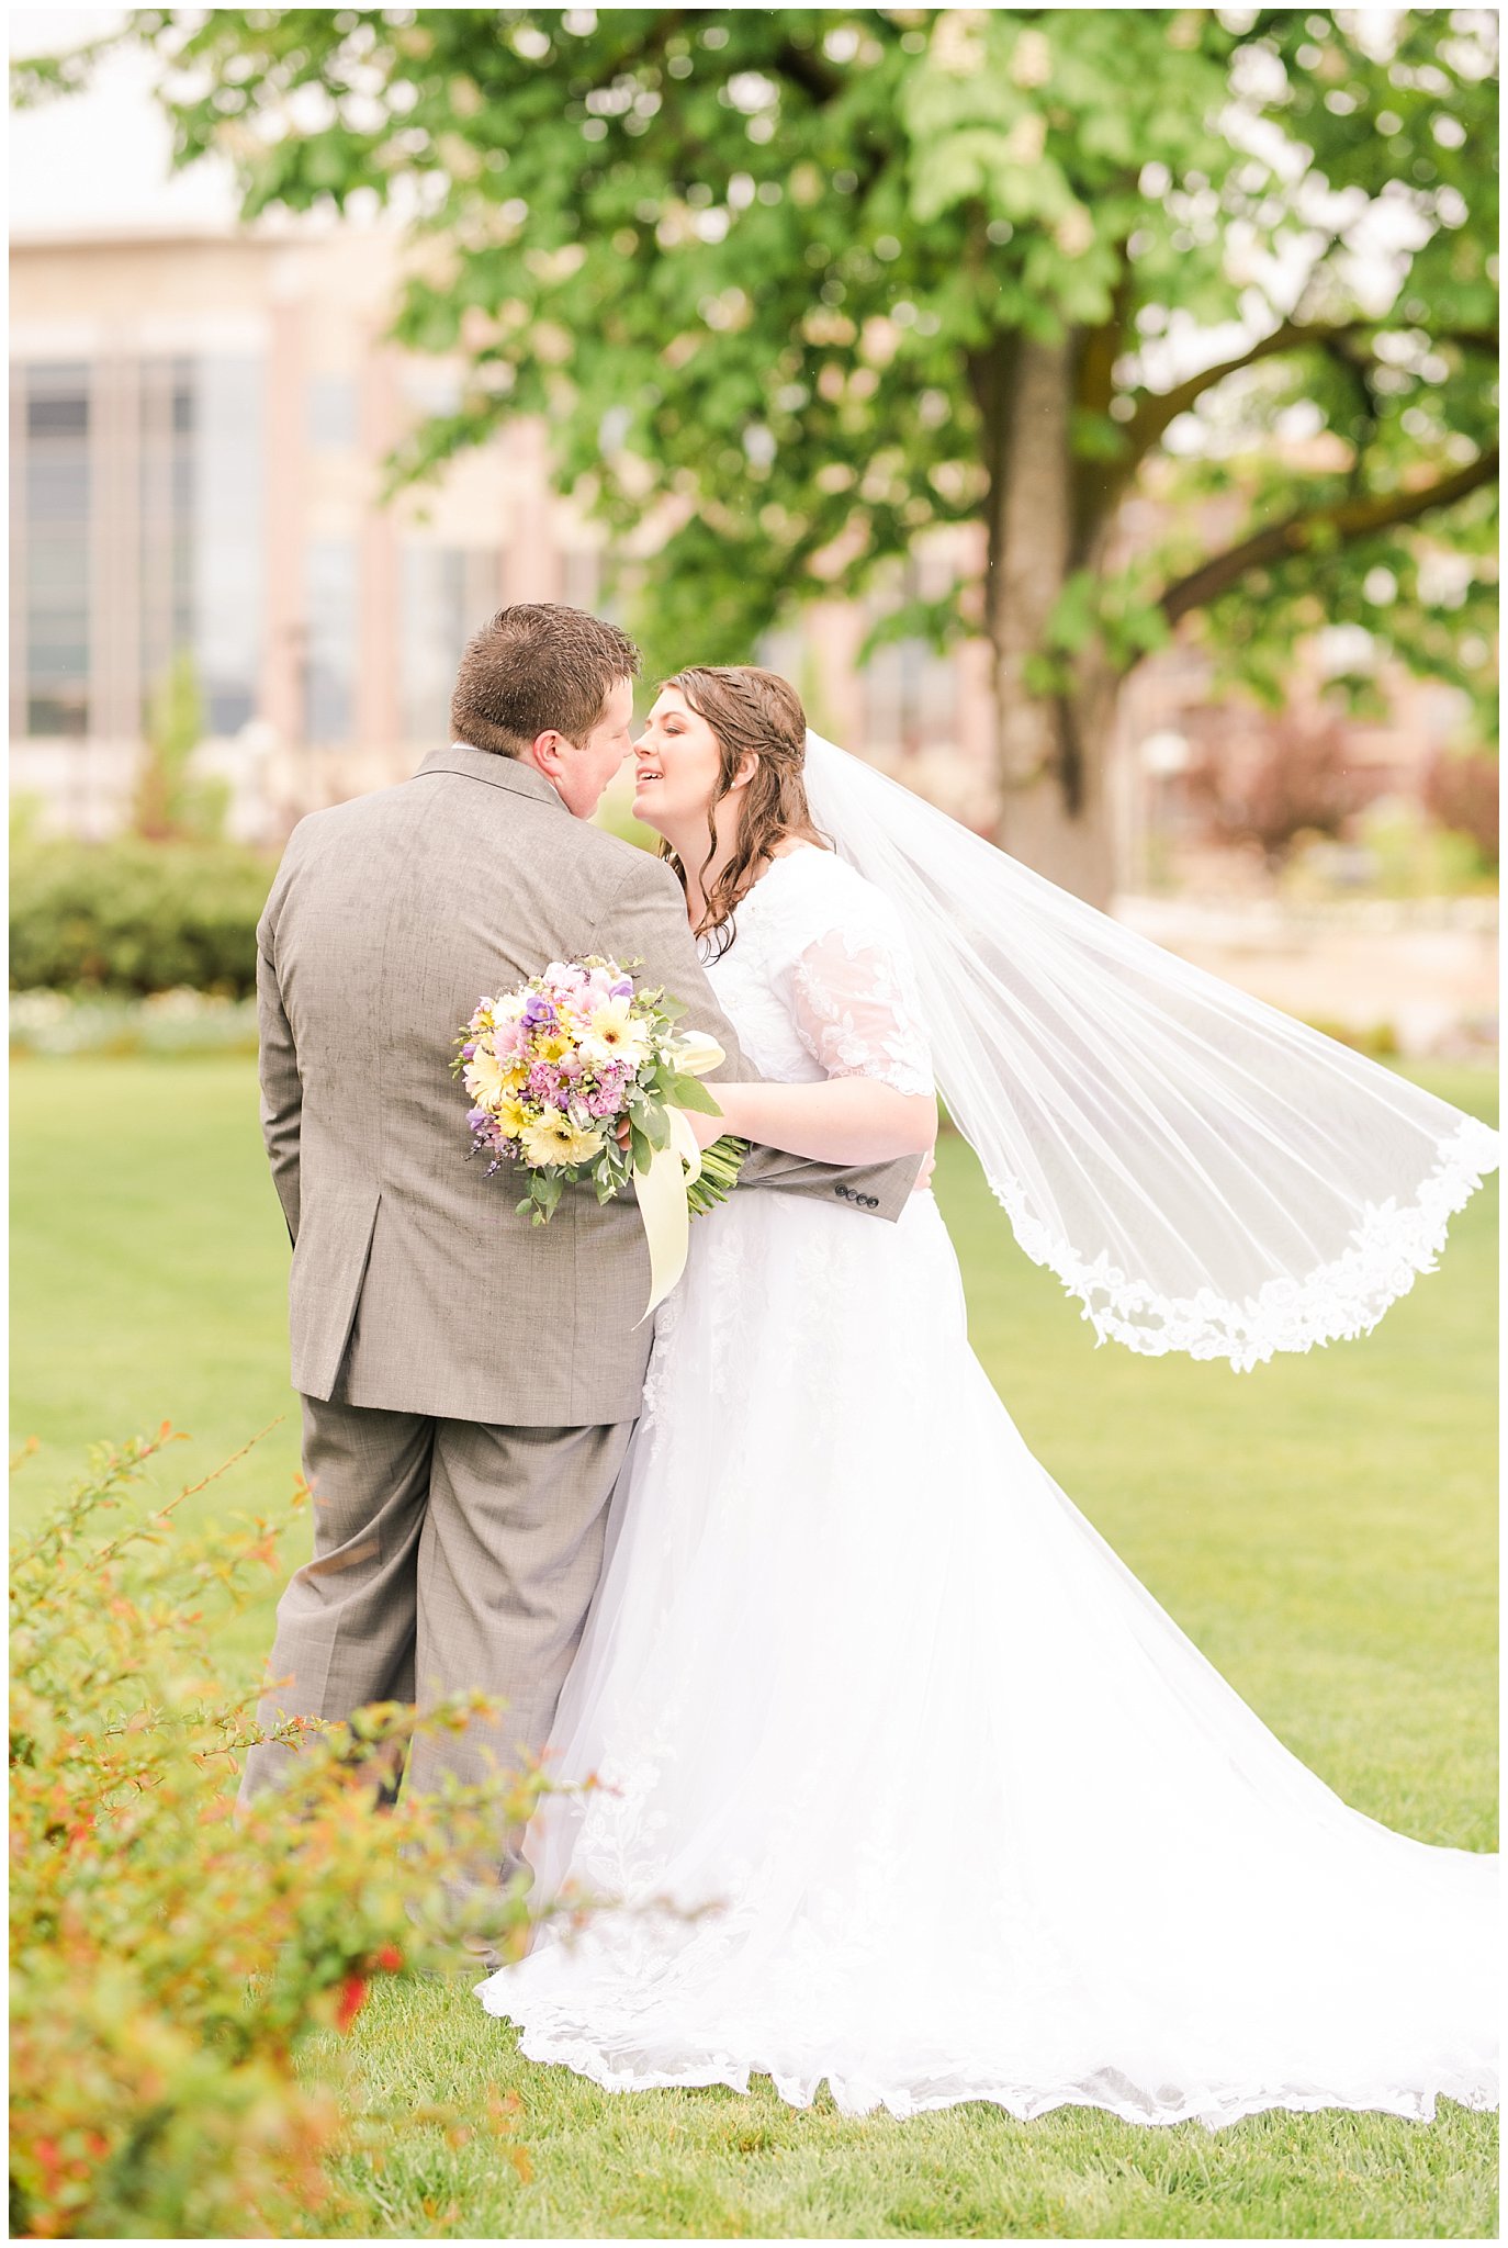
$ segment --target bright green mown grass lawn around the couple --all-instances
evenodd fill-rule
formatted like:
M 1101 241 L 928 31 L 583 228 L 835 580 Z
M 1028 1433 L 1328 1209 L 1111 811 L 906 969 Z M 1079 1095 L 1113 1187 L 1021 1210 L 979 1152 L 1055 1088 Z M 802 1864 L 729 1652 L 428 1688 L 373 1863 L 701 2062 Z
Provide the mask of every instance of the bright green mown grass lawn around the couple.
M 1490 1113 L 1481 1075 L 1429 1084 Z M 67 1484 L 88 1441 L 162 1418 L 193 1436 L 169 1454 L 189 1479 L 283 1416 L 193 1504 L 281 1499 L 297 1470 L 288 1245 L 252 1068 L 27 1061 L 11 1122 L 11 1430 L 43 1439 L 16 1513 Z M 957 1142 L 939 1196 L 975 1349 L 1063 1488 L 1348 1803 L 1490 1848 L 1495 1189 L 1366 1342 L 1245 1376 L 1097 1351 Z M 272 1589 L 227 1655 L 254 1668 L 270 1614 Z M 353 2167 L 351 2237 L 1472 2239 L 1495 2226 L 1495 2118 L 1459 2109 L 1432 2127 L 1259 2115 L 1209 2136 L 978 2106 L 845 2122 L 827 2104 L 796 2115 L 769 2086 L 609 2097 L 521 2061 L 465 1978 L 380 1989 L 346 2046 L 384 2102 L 517 2091 L 530 2169 L 483 2138 L 456 2151 L 416 2129 L 380 2174 Z

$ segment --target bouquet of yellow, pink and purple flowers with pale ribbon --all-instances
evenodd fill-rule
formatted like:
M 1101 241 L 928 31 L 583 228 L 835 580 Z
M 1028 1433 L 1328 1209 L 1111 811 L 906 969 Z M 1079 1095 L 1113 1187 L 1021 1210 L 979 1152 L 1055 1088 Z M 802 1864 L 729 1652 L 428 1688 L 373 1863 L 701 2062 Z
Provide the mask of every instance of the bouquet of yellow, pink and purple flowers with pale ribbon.
M 472 1151 L 492 1158 L 488 1176 L 503 1162 L 524 1167 L 519 1209 L 535 1225 L 548 1225 L 573 1180 L 591 1180 L 598 1203 L 634 1185 L 658 1290 L 649 1308 L 681 1277 L 688 1214 L 726 1200 L 748 1153 L 728 1137 L 706 1153 L 697 1146 L 683 1111 L 719 1115 L 699 1079 L 724 1050 L 676 1030 L 683 1014 L 681 1000 L 641 991 L 616 960 L 553 960 L 515 991 L 479 1000 L 452 1061 L 474 1104 Z

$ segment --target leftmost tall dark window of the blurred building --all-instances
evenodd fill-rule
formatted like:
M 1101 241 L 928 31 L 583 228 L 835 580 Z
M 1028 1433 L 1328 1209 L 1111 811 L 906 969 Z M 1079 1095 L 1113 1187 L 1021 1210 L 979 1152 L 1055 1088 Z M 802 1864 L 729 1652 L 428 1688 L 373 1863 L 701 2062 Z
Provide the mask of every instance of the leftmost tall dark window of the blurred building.
M 31 735 L 90 724 L 90 369 L 22 371 L 22 674 Z

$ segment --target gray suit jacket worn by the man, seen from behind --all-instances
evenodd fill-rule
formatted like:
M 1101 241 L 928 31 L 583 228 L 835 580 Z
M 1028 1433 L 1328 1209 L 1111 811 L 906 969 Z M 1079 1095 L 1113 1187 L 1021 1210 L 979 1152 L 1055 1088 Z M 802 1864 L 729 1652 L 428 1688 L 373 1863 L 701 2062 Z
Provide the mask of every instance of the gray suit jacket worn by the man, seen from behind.
M 506 1171 L 467 1160 L 449 1061 L 483 994 L 607 953 L 685 1000 L 728 1052 L 715 1075 L 753 1075 L 672 872 L 573 818 L 533 767 L 452 746 L 301 821 L 256 942 L 294 1387 L 515 1427 L 632 1421 L 652 1342 L 634 1198 L 566 1189 L 530 1225 Z M 850 1171 L 757 1149 L 744 1176 L 863 1225 L 899 1216 L 915 1173 L 915 1158 Z

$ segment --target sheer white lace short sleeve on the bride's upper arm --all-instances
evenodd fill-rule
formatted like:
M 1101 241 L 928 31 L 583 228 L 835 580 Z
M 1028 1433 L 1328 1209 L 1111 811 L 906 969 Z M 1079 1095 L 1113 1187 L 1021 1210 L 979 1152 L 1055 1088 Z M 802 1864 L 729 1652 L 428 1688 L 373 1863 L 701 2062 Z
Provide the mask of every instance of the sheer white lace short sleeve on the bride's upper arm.
M 856 910 L 802 933 L 789 967 L 796 1034 L 829 1077 L 879 1077 L 897 1093 L 930 1093 L 906 940 L 885 901 L 854 883 Z

